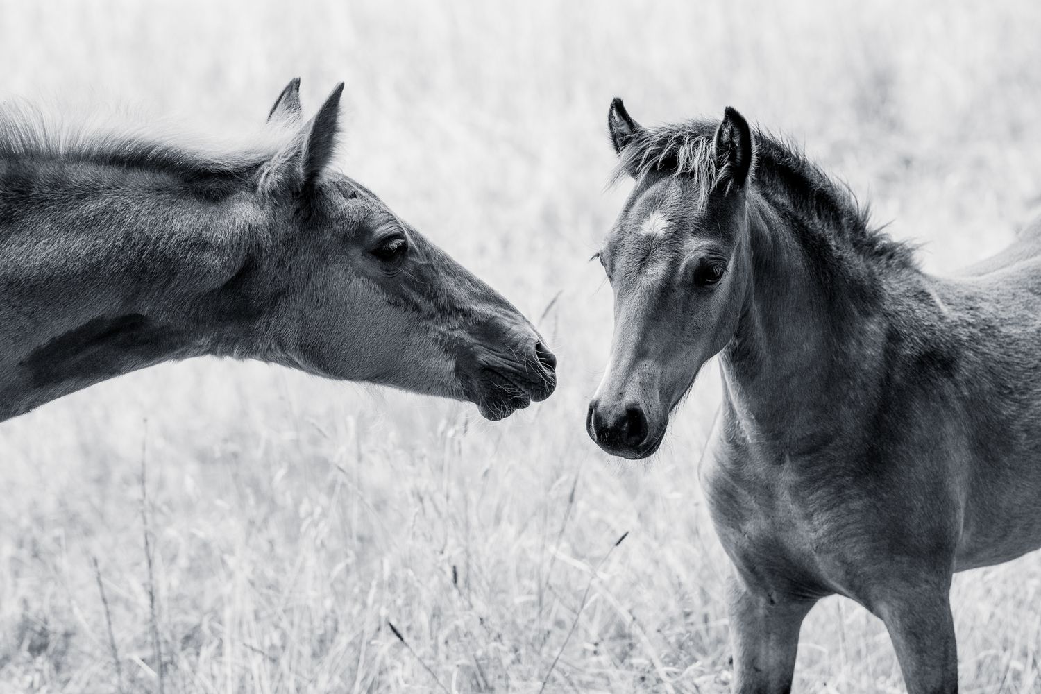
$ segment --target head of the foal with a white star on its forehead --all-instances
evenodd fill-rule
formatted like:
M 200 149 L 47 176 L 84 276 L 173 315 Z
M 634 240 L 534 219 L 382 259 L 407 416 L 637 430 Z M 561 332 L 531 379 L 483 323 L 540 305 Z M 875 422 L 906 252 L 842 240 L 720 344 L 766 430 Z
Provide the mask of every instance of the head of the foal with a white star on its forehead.
M 728 108 L 714 134 L 662 138 L 620 99 L 608 125 L 619 172 L 636 185 L 600 253 L 614 290 L 614 336 L 586 430 L 612 455 L 644 458 L 737 327 L 752 262 L 752 133 Z

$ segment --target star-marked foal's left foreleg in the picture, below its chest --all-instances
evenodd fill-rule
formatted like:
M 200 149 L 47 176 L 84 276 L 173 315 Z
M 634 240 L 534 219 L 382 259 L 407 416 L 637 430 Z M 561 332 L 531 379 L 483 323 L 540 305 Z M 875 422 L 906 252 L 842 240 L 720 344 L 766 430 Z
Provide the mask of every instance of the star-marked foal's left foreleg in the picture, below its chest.
M 803 618 L 815 600 L 750 590 L 735 576 L 728 587 L 736 694 L 787 694 Z

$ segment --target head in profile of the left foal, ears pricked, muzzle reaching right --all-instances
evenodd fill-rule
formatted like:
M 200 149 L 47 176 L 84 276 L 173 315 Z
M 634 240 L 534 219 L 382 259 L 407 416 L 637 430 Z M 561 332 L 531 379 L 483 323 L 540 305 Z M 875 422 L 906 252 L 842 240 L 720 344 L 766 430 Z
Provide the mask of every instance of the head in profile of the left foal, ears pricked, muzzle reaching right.
M 331 168 L 342 84 L 301 119 L 299 80 L 269 121 L 297 130 L 257 173 L 284 246 L 274 359 L 476 403 L 501 419 L 556 385 L 556 359 L 502 295 Z

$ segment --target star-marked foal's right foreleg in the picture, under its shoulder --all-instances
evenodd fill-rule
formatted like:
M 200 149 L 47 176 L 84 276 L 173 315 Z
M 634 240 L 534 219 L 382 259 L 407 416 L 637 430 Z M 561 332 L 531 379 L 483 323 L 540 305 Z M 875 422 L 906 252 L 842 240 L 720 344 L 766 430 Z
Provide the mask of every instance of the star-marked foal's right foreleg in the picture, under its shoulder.
M 908 694 L 958 691 L 958 654 L 948 588 L 907 587 L 880 601 Z

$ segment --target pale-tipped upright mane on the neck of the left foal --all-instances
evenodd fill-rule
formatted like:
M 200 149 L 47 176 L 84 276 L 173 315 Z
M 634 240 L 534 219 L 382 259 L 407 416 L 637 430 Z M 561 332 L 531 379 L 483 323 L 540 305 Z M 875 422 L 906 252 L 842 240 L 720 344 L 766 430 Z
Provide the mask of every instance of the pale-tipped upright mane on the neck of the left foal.
M 218 138 L 162 119 L 146 123 L 125 111 L 93 110 L 78 119 L 59 111 L 23 100 L 0 103 L 0 158 L 154 169 L 186 179 L 242 178 L 297 134 L 276 121 L 245 136 Z

